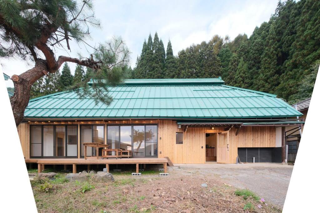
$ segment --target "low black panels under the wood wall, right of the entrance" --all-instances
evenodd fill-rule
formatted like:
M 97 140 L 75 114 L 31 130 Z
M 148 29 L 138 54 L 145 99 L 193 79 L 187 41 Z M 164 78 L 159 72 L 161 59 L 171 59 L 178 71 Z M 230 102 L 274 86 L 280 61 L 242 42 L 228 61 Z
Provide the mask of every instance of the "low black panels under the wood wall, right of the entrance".
M 238 148 L 238 156 L 244 163 L 281 163 L 281 147 Z

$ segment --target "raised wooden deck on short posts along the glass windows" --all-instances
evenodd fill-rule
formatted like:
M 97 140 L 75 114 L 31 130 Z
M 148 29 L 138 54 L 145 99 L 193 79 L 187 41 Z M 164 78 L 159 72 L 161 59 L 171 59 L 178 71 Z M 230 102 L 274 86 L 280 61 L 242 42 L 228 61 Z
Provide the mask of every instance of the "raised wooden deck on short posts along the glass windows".
M 26 163 L 37 163 L 38 173 L 44 170 L 44 165 L 63 164 L 72 165 L 73 173 L 76 173 L 77 164 L 106 164 L 109 172 L 109 164 L 136 164 L 136 172 L 139 172 L 139 164 L 163 164 L 164 173 L 167 172 L 168 159 L 166 158 L 122 158 L 122 159 L 96 159 L 95 157 L 84 158 L 41 158 L 41 159 L 25 159 Z

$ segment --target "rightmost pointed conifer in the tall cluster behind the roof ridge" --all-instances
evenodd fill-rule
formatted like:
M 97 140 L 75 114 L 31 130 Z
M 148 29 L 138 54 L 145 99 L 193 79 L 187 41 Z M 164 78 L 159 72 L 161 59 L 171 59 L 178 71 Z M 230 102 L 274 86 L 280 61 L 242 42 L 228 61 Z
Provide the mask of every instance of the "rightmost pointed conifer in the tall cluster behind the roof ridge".
M 167 57 L 165 58 L 164 78 L 179 78 L 177 59 L 173 56 L 171 41 L 167 45 Z

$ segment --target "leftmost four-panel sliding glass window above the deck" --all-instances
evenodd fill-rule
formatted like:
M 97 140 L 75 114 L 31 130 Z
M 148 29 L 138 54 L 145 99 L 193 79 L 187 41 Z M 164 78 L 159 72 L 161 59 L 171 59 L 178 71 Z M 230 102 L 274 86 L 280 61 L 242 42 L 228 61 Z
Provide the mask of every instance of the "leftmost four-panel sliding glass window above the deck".
M 68 130 L 68 135 L 66 135 Z M 77 126 L 30 126 L 31 157 L 77 156 Z

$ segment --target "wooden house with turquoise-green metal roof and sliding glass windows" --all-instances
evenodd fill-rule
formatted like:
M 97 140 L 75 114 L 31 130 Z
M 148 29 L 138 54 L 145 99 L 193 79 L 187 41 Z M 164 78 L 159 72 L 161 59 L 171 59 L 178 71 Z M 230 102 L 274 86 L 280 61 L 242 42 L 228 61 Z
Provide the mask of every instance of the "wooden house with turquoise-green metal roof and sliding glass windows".
M 74 91 L 31 99 L 18 126 L 26 162 L 84 156 L 108 162 L 98 148 L 84 148 L 99 142 L 129 150 L 132 159 L 173 164 L 281 163 L 284 127 L 304 124 L 276 95 L 231 87 L 220 77 L 129 79 L 108 87 L 108 95 L 110 105 Z

